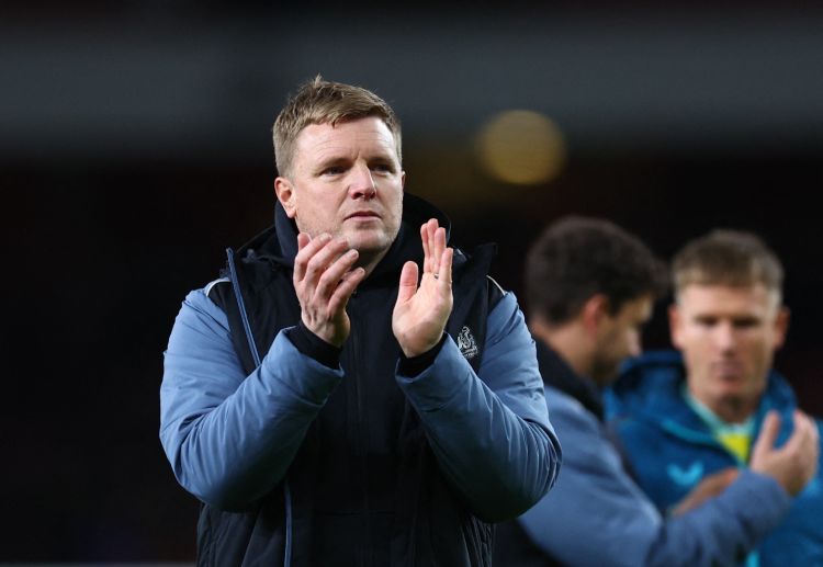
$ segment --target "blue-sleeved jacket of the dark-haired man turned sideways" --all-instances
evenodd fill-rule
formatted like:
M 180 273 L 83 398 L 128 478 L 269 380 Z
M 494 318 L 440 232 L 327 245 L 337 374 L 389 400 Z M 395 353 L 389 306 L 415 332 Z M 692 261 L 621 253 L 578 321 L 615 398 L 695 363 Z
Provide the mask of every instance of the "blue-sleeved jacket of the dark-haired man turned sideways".
M 552 491 L 517 523 L 498 526 L 494 565 L 733 566 L 782 520 L 789 496 L 754 472 L 704 506 L 663 518 L 611 442 L 600 390 L 539 339 L 537 349 L 549 413 L 563 439 L 563 468 Z

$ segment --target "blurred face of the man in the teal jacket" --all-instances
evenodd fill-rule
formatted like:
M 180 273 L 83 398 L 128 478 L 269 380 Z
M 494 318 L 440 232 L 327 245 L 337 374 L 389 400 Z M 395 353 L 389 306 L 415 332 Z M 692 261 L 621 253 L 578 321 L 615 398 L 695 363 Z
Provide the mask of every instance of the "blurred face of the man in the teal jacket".
M 687 285 L 669 310 L 672 342 L 684 355 L 689 390 L 709 408 L 759 399 L 788 311 L 764 285 Z

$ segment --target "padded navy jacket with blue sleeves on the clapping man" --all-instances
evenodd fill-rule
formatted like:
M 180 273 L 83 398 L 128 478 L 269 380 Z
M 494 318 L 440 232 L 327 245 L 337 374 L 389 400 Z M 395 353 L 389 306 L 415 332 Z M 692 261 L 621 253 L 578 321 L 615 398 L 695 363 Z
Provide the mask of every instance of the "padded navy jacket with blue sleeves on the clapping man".
M 450 337 L 419 375 L 398 368 L 399 269 L 421 258 L 407 227 L 432 213 L 406 195 L 401 235 L 349 302 L 338 368 L 289 338 L 296 243 L 282 213 L 238 251 L 236 285 L 190 294 L 166 356 L 161 439 L 204 502 L 200 564 L 488 565 L 489 522 L 553 481 L 559 450 L 533 347 L 510 294 L 489 308 L 488 254 L 455 254 Z M 210 363 L 192 340 L 205 352 L 215 333 L 233 356 Z M 214 375 L 229 364 L 230 379 Z

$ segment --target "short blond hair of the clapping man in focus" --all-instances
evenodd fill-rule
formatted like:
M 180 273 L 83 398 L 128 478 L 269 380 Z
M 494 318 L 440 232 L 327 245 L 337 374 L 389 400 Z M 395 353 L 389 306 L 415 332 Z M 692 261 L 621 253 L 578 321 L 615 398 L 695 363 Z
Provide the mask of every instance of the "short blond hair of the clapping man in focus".
M 324 80 L 319 75 L 300 86 L 274 121 L 274 161 L 281 175 L 289 175 L 294 144 L 309 124 L 330 124 L 376 116 L 394 136 L 397 160 L 403 162 L 401 123 L 392 107 L 373 92 L 342 82 Z

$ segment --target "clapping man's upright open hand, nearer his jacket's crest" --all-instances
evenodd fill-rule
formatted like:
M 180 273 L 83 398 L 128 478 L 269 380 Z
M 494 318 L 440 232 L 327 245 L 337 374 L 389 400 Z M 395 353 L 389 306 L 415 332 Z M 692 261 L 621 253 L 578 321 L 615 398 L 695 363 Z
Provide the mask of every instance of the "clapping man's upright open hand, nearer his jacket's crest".
M 420 227 L 420 238 L 424 251 L 420 286 L 417 286 L 417 264 L 406 262 L 392 315 L 392 331 L 408 358 L 422 354 L 440 342 L 453 303 L 451 262 L 454 251 L 446 247 L 446 229 L 431 218 Z

